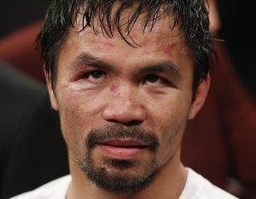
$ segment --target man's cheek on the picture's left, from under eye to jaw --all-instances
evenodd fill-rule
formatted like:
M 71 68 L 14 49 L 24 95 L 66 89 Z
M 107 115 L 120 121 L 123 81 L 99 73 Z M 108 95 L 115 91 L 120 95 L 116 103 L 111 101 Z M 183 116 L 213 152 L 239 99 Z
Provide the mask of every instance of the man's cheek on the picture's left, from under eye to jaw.
M 61 117 L 61 130 L 72 156 L 83 154 L 84 140 L 93 128 L 96 109 L 91 99 L 73 89 L 61 89 L 58 100 Z

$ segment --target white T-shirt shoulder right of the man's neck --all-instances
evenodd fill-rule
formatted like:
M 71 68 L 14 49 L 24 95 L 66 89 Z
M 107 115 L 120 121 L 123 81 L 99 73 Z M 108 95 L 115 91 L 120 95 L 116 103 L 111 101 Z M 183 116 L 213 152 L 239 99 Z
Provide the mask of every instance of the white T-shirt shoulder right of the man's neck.
M 192 169 L 187 168 L 187 170 L 187 182 L 179 199 L 236 199 L 236 196 L 232 196 L 230 193 L 212 185 Z

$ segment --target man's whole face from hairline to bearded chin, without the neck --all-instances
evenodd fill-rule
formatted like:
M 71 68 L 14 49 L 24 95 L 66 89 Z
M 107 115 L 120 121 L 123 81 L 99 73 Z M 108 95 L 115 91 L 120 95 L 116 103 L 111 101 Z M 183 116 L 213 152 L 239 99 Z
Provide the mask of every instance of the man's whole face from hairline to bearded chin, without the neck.
M 183 129 L 202 102 L 192 105 L 193 61 L 171 21 L 143 33 L 138 20 L 136 48 L 78 23 L 61 47 L 52 106 L 72 167 L 103 189 L 141 190 L 179 165 Z

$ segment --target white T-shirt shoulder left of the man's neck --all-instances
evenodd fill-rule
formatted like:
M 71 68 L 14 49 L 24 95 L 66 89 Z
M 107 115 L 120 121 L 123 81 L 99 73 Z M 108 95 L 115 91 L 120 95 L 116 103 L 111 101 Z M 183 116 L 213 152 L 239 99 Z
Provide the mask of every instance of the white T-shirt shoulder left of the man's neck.
M 70 182 L 71 175 L 66 175 L 60 179 L 50 181 L 36 190 L 28 191 L 10 199 L 65 199 Z

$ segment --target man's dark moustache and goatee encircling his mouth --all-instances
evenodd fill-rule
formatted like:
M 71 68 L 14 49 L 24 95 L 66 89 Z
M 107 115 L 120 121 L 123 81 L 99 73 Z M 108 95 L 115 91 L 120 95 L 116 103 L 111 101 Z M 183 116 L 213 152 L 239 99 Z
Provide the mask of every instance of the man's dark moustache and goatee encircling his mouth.
M 159 148 L 158 139 L 154 134 L 141 128 L 122 128 L 119 125 L 113 125 L 93 130 L 84 141 L 84 156 L 78 161 L 84 175 L 97 187 L 111 192 L 135 193 L 145 189 L 157 175 L 158 166 L 155 156 L 148 162 L 102 157 L 101 163 L 96 163 L 93 156 L 96 144 L 112 139 L 137 140 L 148 145 L 148 152 L 152 154 L 155 154 Z M 139 171 L 138 167 L 143 167 L 143 171 Z

